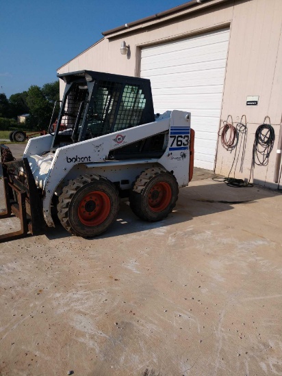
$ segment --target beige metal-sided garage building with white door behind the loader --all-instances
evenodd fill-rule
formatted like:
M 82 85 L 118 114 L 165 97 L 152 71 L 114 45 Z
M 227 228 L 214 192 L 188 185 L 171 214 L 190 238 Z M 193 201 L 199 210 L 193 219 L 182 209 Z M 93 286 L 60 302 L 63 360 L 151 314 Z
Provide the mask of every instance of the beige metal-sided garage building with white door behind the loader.
M 87 69 L 151 79 L 155 113 L 191 111 L 194 165 L 223 176 L 250 178 L 257 127 L 271 124 L 269 161 L 255 165 L 251 179 L 281 189 L 281 30 L 281 0 L 192 0 L 104 31 L 58 73 Z M 232 150 L 221 144 L 227 122 L 247 129 Z

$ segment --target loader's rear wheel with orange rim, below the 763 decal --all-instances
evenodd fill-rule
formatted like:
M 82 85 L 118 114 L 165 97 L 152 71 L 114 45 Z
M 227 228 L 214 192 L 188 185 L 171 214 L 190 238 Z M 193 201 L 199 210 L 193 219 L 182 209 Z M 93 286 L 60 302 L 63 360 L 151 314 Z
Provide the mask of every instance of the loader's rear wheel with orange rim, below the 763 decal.
M 164 168 L 149 168 L 134 183 L 129 196 L 134 214 L 146 221 L 161 221 L 172 212 L 178 198 L 175 176 Z

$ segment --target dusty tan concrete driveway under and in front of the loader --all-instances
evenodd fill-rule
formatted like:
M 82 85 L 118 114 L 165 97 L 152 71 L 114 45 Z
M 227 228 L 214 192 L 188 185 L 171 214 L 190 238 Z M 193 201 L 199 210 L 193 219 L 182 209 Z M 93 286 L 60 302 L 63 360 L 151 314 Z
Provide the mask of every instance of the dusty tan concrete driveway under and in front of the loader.
M 0 375 L 282 375 L 281 194 L 205 173 L 159 223 L 1 244 Z

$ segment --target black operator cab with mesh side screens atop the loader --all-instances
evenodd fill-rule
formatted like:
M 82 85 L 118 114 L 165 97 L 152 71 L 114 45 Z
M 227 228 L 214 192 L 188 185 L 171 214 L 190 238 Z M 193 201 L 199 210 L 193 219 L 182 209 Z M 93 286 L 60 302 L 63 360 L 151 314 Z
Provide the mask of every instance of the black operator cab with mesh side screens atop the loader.
M 149 79 L 91 70 L 57 77 L 66 88 L 49 125 L 52 148 L 155 121 Z

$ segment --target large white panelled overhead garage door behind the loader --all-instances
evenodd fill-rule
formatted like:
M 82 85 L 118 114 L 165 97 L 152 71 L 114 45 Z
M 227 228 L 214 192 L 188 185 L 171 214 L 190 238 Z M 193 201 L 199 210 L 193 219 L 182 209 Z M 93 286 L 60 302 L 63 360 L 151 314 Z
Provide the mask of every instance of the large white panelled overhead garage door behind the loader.
M 229 28 L 144 47 L 140 76 L 151 79 L 155 113 L 191 111 L 196 167 L 214 170 Z

